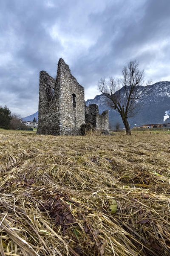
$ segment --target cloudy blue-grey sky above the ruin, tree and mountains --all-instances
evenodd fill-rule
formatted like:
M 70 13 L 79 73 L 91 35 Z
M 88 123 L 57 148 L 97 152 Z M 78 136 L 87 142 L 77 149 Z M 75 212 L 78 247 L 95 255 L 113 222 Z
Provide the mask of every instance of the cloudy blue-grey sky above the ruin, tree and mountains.
M 0 0 L 0 105 L 36 112 L 39 72 L 56 76 L 61 57 L 86 100 L 133 59 L 170 81 L 170 0 Z

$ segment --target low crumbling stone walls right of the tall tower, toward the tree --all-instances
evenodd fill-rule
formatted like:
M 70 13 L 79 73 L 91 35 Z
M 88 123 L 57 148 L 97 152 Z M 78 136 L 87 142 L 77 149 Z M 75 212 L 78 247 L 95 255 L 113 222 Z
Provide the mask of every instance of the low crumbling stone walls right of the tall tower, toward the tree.
M 96 104 L 91 104 L 85 107 L 85 123 L 91 123 L 94 130 L 108 133 L 108 110 L 105 110 L 101 115 Z

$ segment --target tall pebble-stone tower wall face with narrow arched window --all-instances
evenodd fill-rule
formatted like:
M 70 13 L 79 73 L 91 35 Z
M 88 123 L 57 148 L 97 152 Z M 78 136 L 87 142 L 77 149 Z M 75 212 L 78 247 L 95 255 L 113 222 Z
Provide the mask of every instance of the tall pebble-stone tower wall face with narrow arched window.
M 61 74 L 61 135 L 81 135 L 81 125 L 85 123 L 84 87 L 71 75 L 63 59 L 59 59 L 58 70 Z

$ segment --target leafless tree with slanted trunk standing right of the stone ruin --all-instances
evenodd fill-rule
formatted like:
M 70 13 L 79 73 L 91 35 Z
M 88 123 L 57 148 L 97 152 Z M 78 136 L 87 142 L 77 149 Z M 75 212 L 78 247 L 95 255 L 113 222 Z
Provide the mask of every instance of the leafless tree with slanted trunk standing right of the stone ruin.
M 127 119 L 136 115 L 148 91 L 148 86 L 140 86 L 144 84 L 144 70 L 140 71 L 138 66 L 137 61 L 130 61 L 123 68 L 120 79 L 110 77 L 108 81 L 105 78 L 98 81 L 98 88 L 107 97 L 108 106 L 122 117 L 127 135 L 131 135 Z

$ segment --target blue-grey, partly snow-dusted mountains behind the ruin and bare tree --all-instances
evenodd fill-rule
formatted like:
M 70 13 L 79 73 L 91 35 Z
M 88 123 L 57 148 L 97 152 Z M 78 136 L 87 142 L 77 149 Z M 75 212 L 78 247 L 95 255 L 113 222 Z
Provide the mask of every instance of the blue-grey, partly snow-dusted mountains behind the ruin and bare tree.
M 170 110 L 170 81 L 157 82 L 149 87 L 150 94 L 146 96 L 144 105 L 142 105 L 135 117 L 129 119 L 130 127 L 147 123 L 162 123 L 165 111 Z M 99 113 L 106 109 L 109 110 L 109 123 L 111 126 L 119 122 L 124 127 L 119 113 L 108 108 L 106 97 L 103 94 L 96 95 L 94 99 L 88 99 L 86 105 L 89 106 L 90 104 L 97 104 Z M 23 121 L 32 121 L 34 117 L 38 119 L 38 111 L 31 116 L 24 117 Z M 170 122 L 170 118 L 167 119 L 167 122 Z

